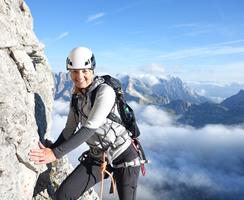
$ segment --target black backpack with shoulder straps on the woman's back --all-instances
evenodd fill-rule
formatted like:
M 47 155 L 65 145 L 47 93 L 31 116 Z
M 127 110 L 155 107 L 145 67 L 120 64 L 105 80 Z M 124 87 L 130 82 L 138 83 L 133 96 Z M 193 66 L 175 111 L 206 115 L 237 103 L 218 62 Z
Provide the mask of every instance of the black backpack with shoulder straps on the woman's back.
M 123 125 L 127 130 L 129 130 L 132 133 L 131 137 L 133 139 L 139 137 L 140 130 L 136 123 L 135 114 L 134 114 L 134 111 L 132 110 L 132 108 L 127 104 L 127 102 L 125 100 L 121 82 L 118 79 L 116 79 L 110 75 L 103 75 L 101 77 L 104 79 L 104 83 L 111 86 L 115 91 L 115 94 L 116 94 L 115 103 L 117 104 L 118 112 L 120 114 L 121 119 L 119 117 L 117 117 L 116 115 L 114 115 L 113 113 L 109 113 L 107 118 Z M 99 89 L 99 86 L 94 91 L 92 91 L 91 106 L 93 106 L 93 104 L 94 104 L 96 93 L 97 93 L 98 89 Z

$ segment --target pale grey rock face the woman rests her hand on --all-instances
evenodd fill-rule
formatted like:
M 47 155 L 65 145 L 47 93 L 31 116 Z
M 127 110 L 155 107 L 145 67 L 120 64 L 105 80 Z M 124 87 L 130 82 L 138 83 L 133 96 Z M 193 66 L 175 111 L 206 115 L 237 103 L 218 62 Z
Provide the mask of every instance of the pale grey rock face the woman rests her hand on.
M 25 2 L 0 4 L 0 197 L 28 200 L 44 170 L 28 152 L 50 130 L 53 77 Z

